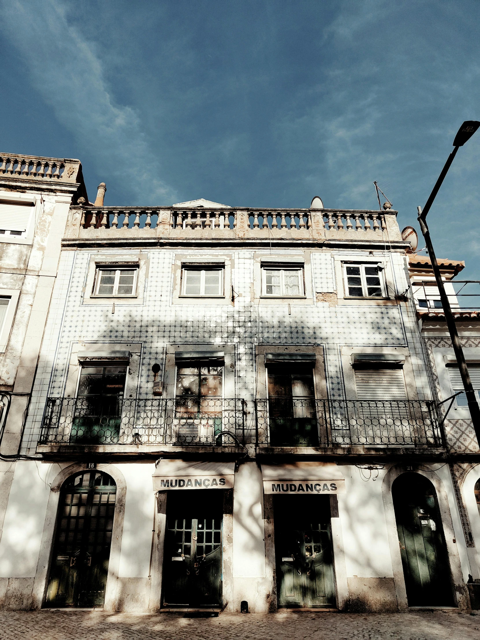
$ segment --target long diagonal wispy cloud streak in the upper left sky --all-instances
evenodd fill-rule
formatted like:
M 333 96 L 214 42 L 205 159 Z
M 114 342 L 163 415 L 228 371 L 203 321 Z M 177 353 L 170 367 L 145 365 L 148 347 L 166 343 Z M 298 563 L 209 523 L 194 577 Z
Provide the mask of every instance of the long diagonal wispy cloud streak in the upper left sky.
M 67 7 L 52 0 L 3 3 L 1 26 L 24 58 L 31 83 L 72 132 L 100 175 L 124 181 L 139 204 L 175 202 L 161 179 L 134 109 L 115 104 L 95 47 L 69 24 Z

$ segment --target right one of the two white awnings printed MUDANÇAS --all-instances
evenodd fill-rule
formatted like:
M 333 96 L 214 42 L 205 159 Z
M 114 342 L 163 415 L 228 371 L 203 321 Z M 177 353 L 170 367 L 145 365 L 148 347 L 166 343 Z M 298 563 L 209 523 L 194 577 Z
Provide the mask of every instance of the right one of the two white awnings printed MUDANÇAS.
M 344 474 L 334 463 L 296 462 L 290 465 L 262 465 L 262 477 L 266 494 L 346 493 Z

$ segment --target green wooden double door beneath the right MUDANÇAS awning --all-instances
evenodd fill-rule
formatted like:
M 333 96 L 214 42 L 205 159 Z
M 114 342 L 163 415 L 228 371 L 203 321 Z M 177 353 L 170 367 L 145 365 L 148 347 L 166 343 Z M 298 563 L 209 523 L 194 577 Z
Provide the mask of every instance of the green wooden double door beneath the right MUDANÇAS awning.
M 336 606 L 327 500 L 316 496 L 287 496 L 275 502 L 279 607 Z

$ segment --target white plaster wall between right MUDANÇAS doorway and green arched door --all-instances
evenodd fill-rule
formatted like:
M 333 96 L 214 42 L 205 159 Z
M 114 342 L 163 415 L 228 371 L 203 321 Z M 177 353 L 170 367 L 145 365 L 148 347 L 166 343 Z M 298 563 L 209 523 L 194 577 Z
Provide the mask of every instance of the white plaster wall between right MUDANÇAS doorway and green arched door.
M 355 466 L 342 467 L 345 472 L 346 493 L 339 494 L 339 516 L 342 524 L 345 564 L 348 577 L 393 577 L 392 559 L 388 545 L 387 522 L 383 508 L 381 483 L 372 471 Z

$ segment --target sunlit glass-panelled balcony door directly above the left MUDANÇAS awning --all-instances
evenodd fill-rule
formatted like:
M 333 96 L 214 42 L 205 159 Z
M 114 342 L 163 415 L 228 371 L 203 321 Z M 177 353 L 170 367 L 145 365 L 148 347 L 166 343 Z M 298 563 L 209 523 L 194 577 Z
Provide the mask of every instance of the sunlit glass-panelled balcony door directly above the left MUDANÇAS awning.
M 223 362 L 177 362 L 173 438 L 184 444 L 221 444 Z

